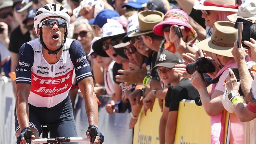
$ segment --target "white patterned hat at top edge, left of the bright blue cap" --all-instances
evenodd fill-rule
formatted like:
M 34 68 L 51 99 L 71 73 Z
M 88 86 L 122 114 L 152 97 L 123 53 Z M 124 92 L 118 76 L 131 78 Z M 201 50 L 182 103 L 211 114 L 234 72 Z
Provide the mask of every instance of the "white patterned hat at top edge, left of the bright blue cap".
M 98 12 L 104 9 L 104 3 L 102 0 L 83 0 L 80 2 L 80 6 L 76 7 L 73 10 L 73 15 L 77 18 L 79 15 L 79 11 L 82 9 L 83 6 L 93 6 L 95 5 L 95 10 L 94 10 L 94 17 L 97 16 Z

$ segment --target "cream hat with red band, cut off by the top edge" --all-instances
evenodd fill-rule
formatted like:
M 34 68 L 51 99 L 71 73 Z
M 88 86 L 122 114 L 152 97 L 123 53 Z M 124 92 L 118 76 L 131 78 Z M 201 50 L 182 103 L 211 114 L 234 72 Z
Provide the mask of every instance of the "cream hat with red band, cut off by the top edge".
M 198 10 L 237 12 L 238 7 L 239 5 L 236 5 L 236 0 L 205 0 L 204 4 L 195 5 L 193 8 Z

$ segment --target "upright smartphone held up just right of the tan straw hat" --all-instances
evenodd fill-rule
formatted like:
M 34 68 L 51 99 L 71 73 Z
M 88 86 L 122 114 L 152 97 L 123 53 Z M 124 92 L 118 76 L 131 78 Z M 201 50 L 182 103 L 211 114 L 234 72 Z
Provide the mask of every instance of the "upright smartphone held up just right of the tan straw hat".
M 238 48 L 241 48 L 241 44 L 243 48 L 250 48 L 249 46 L 245 45 L 244 41 L 250 41 L 250 23 L 249 22 L 237 22 L 237 45 Z

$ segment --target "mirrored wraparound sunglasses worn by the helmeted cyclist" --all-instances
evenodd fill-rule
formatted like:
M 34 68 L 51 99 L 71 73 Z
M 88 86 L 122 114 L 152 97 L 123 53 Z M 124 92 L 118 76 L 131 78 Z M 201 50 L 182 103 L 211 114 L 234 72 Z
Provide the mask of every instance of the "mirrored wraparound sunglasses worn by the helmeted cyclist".
M 54 24 L 58 25 L 58 28 L 67 28 L 67 21 L 62 18 L 48 18 L 39 23 L 39 28 L 52 28 Z

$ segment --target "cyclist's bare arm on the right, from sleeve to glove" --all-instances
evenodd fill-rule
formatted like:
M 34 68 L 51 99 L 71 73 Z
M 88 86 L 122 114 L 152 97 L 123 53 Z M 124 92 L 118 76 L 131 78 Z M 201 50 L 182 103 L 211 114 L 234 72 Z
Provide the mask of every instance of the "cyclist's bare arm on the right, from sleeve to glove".
M 83 94 L 89 125 L 98 127 L 98 104 L 94 92 L 93 78 L 88 77 L 83 79 L 78 83 L 78 87 Z

